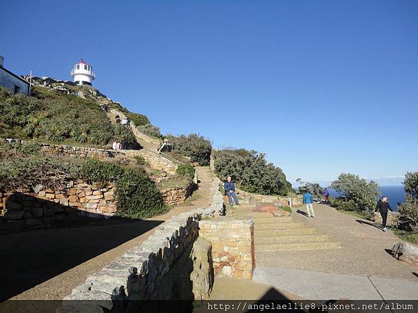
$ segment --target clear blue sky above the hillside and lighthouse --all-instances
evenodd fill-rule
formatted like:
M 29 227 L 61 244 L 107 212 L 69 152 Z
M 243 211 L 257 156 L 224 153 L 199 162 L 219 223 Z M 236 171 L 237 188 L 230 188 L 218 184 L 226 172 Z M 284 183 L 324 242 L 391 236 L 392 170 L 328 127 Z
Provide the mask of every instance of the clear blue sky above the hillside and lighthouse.
M 162 132 L 265 152 L 288 179 L 418 170 L 418 1 L 1 1 L 17 74 L 70 79 Z

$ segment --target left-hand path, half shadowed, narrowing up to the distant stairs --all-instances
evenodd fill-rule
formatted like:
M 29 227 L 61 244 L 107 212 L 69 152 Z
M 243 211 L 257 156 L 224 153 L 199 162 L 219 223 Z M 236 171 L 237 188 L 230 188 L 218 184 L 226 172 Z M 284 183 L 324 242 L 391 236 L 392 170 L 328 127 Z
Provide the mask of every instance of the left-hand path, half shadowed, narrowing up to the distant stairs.
M 126 250 L 141 245 L 171 216 L 210 204 L 212 172 L 196 168 L 193 202 L 167 214 L 116 225 L 36 230 L 0 237 L 0 300 L 61 300 L 86 277 Z

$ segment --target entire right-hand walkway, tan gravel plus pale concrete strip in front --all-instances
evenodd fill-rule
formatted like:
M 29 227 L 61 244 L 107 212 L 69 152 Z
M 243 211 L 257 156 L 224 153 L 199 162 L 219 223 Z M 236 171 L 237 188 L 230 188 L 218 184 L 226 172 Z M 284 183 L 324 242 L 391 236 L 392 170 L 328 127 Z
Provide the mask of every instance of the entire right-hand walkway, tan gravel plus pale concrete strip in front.
M 293 219 L 339 241 L 341 249 L 258 252 L 254 281 L 307 299 L 418 298 L 418 268 L 389 254 L 401 241 L 393 232 L 325 204 L 314 209 L 316 218 L 294 209 Z

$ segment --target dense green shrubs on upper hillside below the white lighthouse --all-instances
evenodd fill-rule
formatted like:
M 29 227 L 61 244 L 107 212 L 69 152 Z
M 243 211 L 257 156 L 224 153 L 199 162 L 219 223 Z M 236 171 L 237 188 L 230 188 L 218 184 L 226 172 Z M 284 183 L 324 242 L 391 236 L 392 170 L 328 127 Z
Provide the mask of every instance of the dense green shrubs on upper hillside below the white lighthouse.
M 95 102 L 40 87 L 32 97 L 0 88 L 0 136 L 52 143 L 107 145 L 115 138 L 135 143 L 132 131 L 112 126 Z

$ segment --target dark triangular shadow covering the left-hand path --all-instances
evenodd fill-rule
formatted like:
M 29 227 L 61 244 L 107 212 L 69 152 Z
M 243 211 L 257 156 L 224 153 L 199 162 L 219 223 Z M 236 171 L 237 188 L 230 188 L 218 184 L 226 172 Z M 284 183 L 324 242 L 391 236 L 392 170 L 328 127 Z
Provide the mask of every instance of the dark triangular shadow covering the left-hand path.
M 0 236 L 0 301 L 35 287 L 160 225 L 129 220 L 113 225 L 33 230 Z

